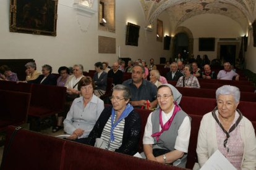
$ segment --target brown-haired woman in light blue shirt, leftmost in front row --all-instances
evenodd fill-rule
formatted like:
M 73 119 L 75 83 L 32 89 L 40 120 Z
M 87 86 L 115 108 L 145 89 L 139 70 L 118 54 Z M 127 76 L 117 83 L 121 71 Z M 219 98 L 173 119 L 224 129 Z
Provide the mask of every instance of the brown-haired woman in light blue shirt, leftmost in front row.
M 93 94 L 95 84 L 89 76 L 79 81 L 81 97 L 72 103 L 67 118 L 64 120 L 64 131 L 70 134 L 67 139 L 81 142 L 92 131 L 96 120 L 104 109 L 104 102 Z

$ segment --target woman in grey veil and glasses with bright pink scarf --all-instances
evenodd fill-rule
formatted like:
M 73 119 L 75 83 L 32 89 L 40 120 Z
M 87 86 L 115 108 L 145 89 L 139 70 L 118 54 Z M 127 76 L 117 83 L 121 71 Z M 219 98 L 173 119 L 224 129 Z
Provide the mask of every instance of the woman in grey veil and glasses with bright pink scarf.
M 190 137 L 190 118 L 179 107 L 181 93 L 171 84 L 158 87 L 159 108 L 150 113 L 143 136 L 148 160 L 185 168 Z

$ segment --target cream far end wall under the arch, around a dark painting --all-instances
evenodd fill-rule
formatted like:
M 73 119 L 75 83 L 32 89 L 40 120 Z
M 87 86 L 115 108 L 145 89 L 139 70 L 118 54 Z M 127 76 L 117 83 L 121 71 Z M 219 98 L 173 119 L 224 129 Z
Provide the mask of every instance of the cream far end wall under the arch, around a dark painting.
M 194 55 L 207 54 L 209 59 L 216 59 L 219 38 L 239 38 L 245 31 L 231 18 L 217 14 L 203 14 L 189 18 L 181 26 L 192 31 L 194 37 Z M 215 51 L 198 51 L 198 38 L 215 38 Z M 227 41 L 220 41 L 227 42 Z M 234 41 L 231 41 L 234 42 Z

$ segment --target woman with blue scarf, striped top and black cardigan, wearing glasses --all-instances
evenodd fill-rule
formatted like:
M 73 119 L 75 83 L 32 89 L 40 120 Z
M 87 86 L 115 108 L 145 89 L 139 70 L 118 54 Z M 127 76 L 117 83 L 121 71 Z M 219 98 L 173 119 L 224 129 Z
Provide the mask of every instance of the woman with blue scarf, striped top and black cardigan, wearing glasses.
M 140 139 L 140 116 L 134 111 L 129 89 L 121 84 L 113 87 L 110 100 L 113 107 L 105 108 L 84 144 L 134 155 Z

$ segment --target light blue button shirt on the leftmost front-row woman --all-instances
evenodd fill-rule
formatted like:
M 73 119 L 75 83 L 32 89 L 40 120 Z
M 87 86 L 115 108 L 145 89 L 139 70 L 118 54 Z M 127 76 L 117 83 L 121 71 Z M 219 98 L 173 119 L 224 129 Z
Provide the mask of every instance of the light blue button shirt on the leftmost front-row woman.
M 83 129 L 83 135 L 79 138 L 88 137 L 104 109 L 104 102 L 93 94 L 92 99 L 83 106 L 83 97 L 79 97 L 72 103 L 67 118 L 64 120 L 64 131 L 72 134 L 75 129 Z

